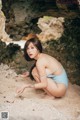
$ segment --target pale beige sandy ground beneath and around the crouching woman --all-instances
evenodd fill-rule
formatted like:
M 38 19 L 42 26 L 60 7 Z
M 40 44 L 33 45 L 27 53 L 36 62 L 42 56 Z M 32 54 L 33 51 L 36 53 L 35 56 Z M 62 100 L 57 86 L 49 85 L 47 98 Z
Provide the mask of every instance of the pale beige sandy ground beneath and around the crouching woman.
M 0 65 L 0 120 L 8 112 L 9 120 L 80 120 L 80 86 L 69 83 L 63 98 L 48 99 L 41 90 L 26 89 L 15 97 L 16 88 L 34 84 L 7 65 Z

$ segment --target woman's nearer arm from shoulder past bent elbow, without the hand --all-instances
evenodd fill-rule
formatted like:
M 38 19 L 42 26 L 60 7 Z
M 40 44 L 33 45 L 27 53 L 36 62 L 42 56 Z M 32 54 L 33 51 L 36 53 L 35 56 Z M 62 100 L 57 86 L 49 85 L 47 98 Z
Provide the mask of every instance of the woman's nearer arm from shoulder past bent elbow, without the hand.
M 41 88 L 46 88 L 47 87 L 47 77 L 46 77 L 46 66 L 45 66 L 45 60 L 39 60 L 36 63 L 36 68 L 38 70 L 38 74 L 39 74 L 39 79 L 40 79 L 40 83 L 36 83 L 34 85 L 35 89 L 41 89 Z

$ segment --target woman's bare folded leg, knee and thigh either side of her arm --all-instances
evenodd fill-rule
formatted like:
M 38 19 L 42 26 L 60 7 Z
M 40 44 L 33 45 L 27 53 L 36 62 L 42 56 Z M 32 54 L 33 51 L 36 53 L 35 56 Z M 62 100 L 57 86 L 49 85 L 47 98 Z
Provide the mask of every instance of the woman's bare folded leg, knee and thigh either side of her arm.
M 36 67 L 32 70 L 32 75 L 36 82 L 40 82 L 38 71 Z M 51 78 L 47 78 L 48 86 L 43 89 L 49 96 L 61 97 L 66 92 L 66 87 L 64 84 L 57 84 Z

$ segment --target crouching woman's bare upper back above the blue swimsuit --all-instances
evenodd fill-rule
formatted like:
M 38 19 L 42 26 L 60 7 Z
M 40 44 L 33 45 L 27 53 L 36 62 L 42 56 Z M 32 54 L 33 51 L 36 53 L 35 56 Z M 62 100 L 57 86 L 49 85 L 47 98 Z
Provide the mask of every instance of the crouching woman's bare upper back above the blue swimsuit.
M 42 53 L 39 59 L 45 62 L 46 74 L 58 75 L 62 72 L 62 65 L 54 57 Z

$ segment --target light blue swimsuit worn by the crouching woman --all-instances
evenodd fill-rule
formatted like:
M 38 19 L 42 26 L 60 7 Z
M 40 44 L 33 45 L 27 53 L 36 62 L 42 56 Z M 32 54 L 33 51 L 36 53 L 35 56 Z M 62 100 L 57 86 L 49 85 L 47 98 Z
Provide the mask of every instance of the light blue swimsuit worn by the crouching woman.
M 56 83 L 63 83 L 66 87 L 68 87 L 68 77 L 64 69 L 62 74 L 60 75 L 49 74 L 47 75 L 47 78 L 53 79 Z

